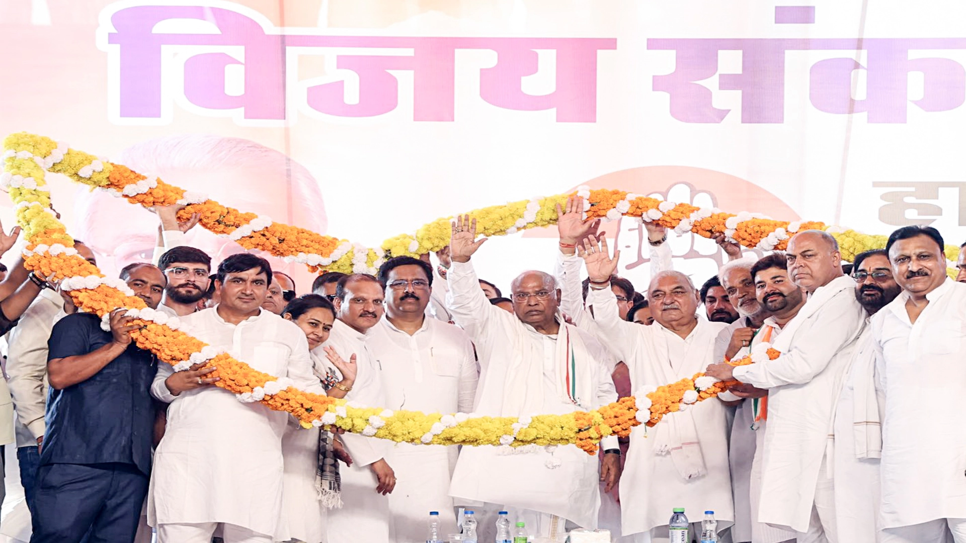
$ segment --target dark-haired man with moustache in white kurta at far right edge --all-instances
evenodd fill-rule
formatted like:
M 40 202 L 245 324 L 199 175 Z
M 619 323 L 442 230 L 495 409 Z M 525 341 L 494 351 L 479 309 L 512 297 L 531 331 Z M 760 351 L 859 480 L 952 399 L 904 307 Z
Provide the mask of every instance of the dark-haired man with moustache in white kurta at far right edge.
M 886 399 L 880 519 L 889 543 L 950 532 L 966 542 L 966 286 L 947 277 L 944 246 L 935 228 L 892 233 L 886 251 L 902 292 L 871 322 Z

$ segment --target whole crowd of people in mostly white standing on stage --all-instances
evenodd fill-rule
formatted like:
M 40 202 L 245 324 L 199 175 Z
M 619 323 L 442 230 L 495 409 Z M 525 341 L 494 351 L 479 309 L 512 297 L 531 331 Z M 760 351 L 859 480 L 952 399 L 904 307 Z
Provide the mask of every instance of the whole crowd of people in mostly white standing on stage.
M 354 405 L 526 425 L 700 372 L 729 383 L 604 438 L 597 456 L 304 430 L 217 386 L 205 361 L 158 363 L 123 309 L 104 329 L 19 260 L 0 283 L 13 396 L 0 385 L 0 408 L 15 409 L 31 541 L 402 543 L 426 539 L 430 511 L 459 532 L 466 507 L 480 541 L 509 511 L 538 536 L 599 527 L 646 542 L 667 540 L 671 508 L 685 507 L 696 524 L 713 510 L 723 542 L 966 543 L 966 249 L 957 282 L 930 227 L 899 228 L 847 265 L 822 231 L 761 258 L 717 236 L 729 261 L 697 288 L 671 269 L 666 230 L 645 223 L 652 278 L 638 293 L 582 209 L 558 209 L 554 271 L 522 272 L 505 297 L 474 271 L 497 248 L 469 216 L 438 266 L 391 258 L 298 296 L 254 254 L 213 266 L 184 243 L 194 221 L 159 208 L 154 264 L 121 278 L 214 348 Z M 0 249 L 15 238 L 0 233 Z M 765 360 L 769 347 L 780 356 Z

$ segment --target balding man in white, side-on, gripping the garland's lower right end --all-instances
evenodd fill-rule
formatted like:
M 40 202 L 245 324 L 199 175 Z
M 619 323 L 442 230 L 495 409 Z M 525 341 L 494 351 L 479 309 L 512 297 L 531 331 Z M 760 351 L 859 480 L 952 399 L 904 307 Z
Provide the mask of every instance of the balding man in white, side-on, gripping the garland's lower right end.
M 826 450 L 838 386 L 866 311 L 855 299 L 855 281 L 842 274 L 838 243 L 828 233 L 796 234 L 786 259 L 789 278 L 810 298 L 772 343 L 781 357 L 740 367 L 712 364 L 706 373 L 768 389 L 757 522 L 793 529 L 800 540 L 835 542 L 834 459 Z

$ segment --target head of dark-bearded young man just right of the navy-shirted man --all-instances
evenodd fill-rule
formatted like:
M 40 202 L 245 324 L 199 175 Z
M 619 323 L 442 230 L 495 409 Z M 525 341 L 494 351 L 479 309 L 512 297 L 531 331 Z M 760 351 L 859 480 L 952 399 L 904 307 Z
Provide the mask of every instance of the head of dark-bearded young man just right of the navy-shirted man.
M 208 291 L 212 257 L 205 251 L 185 245 L 169 249 L 157 260 L 157 267 L 168 278 L 158 310 L 184 317 L 198 310 L 198 300 Z

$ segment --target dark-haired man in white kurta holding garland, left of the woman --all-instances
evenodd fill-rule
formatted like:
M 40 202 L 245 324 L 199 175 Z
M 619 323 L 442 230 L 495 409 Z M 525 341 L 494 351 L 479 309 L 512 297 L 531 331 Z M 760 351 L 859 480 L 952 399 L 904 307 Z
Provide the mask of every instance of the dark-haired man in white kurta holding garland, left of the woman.
M 231 255 L 218 265 L 217 282 L 221 301 L 182 318 L 192 335 L 256 371 L 324 394 L 305 333 L 261 308 L 271 282 L 268 261 Z M 270 543 L 281 508 L 281 440 L 290 415 L 213 386 L 218 378 L 205 376 L 215 368 L 201 365 L 157 368 L 152 394 L 170 406 L 155 453 L 149 522 L 158 543 L 210 543 L 215 531 L 225 543 Z

